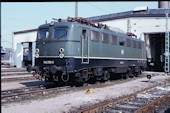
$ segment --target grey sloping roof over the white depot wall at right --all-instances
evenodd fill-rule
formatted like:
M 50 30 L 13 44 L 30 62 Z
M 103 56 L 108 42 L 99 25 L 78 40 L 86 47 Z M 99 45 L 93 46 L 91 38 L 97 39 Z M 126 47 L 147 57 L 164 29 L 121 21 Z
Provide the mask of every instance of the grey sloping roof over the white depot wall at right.
M 86 19 L 92 22 L 101 22 L 129 17 L 165 17 L 166 13 L 168 13 L 170 16 L 170 9 L 160 8 L 160 9 L 147 9 L 145 11 L 126 11 L 114 14 L 94 16 Z

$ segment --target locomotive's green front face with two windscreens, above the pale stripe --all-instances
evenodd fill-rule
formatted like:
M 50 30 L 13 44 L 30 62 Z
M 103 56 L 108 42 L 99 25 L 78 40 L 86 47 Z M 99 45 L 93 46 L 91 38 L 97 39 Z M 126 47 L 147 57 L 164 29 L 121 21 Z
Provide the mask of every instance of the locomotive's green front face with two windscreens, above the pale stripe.
M 59 49 L 66 46 L 68 30 L 68 26 L 40 26 L 36 41 L 36 49 L 41 50 L 39 56 L 57 56 Z

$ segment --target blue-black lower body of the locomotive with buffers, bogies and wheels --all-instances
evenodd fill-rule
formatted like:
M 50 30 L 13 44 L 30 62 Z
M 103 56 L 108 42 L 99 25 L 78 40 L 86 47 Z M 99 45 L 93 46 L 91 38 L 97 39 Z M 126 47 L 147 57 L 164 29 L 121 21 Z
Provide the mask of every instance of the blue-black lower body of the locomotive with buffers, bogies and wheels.
M 53 61 L 54 64 L 43 64 Z M 89 64 L 81 64 L 81 58 L 38 58 L 34 71 L 45 81 L 62 83 L 84 83 L 91 79 L 108 80 L 119 74 L 123 78 L 138 76 L 145 67 L 142 60 L 90 59 Z

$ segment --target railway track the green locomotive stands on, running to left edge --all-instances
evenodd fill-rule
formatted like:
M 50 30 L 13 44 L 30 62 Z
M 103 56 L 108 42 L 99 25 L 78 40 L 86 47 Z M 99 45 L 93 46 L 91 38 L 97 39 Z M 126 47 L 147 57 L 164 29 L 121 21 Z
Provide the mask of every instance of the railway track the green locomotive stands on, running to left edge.
M 106 87 L 110 85 L 136 80 L 138 78 L 142 78 L 142 77 L 107 81 L 105 83 L 100 83 L 100 82 L 97 82 L 95 84 L 87 83 L 84 84 L 84 86 L 82 87 L 71 87 L 71 86 L 58 87 L 56 84 L 55 85 L 47 84 L 47 85 L 35 86 L 35 87 L 25 87 L 25 88 L 18 88 L 12 90 L 4 90 L 1 91 L 1 103 L 7 104 L 11 102 L 21 102 L 24 100 L 35 99 L 37 97 L 45 97 L 45 96 L 49 97 L 49 96 L 64 93 L 63 91 L 69 92 L 69 91 L 85 90 L 88 88 L 101 88 L 101 87 Z

